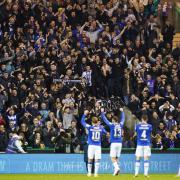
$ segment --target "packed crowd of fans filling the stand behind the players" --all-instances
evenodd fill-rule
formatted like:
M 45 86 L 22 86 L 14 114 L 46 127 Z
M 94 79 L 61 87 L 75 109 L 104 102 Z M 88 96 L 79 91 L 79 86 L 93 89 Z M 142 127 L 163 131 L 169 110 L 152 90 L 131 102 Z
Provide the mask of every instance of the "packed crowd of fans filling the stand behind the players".
M 1 1 L 0 150 L 17 132 L 25 146 L 79 152 L 84 109 L 99 116 L 97 100 L 111 97 L 148 115 L 152 147 L 180 147 L 180 44 L 167 9 L 158 0 Z M 132 137 L 125 128 L 123 147 L 135 147 Z

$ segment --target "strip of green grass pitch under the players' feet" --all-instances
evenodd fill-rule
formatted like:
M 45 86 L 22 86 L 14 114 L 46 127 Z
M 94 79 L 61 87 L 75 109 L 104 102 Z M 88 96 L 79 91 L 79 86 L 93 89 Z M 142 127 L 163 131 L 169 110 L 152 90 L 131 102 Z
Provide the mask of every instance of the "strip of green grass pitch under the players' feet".
M 144 179 L 150 179 L 150 180 L 173 180 L 173 179 L 180 179 L 179 177 L 176 177 L 174 174 L 167 174 L 167 175 L 161 175 L 161 174 L 152 174 L 150 175 L 149 178 L 145 178 L 143 175 L 139 175 L 137 178 L 134 178 L 133 175 L 130 174 L 122 174 L 119 176 L 112 176 L 112 175 L 99 175 L 99 177 L 94 178 L 94 177 L 87 177 L 86 175 L 74 175 L 74 174 L 69 174 L 69 175 L 61 175 L 61 174 L 8 174 L 8 175 L 3 175 L 0 174 L 0 180 L 144 180 Z

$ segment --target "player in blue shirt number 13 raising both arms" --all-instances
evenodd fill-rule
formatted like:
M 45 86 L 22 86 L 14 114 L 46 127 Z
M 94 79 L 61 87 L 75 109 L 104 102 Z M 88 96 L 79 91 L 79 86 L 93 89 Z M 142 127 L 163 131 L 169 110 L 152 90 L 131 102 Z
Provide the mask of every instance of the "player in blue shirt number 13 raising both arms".
M 120 120 L 117 116 L 114 116 L 112 118 L 112 122 L 110 122 L 105 116 L 104 108 L 101 108 L 101 118 L 110 128 L 110 143 L 111 143 L 110 157 L 114 166 L 113 175 L 118 175 L 120 171 L 118 161 L 122 149 L 122 130 L 125 121 L 123 108 L 120 108 L 120 111 L 121 111 Z

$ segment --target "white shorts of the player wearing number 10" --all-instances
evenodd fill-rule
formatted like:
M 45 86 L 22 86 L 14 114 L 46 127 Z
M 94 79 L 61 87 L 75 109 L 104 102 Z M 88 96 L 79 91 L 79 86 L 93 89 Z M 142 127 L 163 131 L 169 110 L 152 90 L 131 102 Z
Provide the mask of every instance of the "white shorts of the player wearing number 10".
M 89 159 L 101 159 L 101 146 L 89 145 L 88 146 Z

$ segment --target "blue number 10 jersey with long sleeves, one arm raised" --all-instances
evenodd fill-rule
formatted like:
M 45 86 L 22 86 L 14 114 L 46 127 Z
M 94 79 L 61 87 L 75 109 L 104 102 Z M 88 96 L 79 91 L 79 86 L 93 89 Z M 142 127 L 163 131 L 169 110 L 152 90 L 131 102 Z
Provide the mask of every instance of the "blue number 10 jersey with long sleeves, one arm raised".
M 88 145 L 101 146 L 102 135 L 106 130 L 101 125 L 89 125 L 85 122 L 86 115 L 81 118 L 81 124 L 88 130 Z

